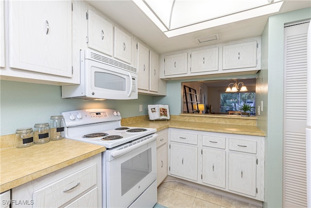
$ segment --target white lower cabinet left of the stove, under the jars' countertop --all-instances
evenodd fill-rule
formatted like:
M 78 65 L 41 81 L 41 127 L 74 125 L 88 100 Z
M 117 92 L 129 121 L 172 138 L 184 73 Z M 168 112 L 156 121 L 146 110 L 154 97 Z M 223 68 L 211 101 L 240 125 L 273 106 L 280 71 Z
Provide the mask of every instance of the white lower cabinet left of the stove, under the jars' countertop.
M 15 207 L 102 207 L 102 156 L 92 156 L 12 189 Z

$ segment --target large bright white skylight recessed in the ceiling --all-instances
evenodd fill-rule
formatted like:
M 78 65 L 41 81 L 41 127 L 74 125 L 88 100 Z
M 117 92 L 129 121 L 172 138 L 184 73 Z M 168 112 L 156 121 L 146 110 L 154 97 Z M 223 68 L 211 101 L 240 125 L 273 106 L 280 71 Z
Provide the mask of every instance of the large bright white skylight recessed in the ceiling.
M 168 38 L 275 13 L 283 4 L 282 0 L 133 1 Z

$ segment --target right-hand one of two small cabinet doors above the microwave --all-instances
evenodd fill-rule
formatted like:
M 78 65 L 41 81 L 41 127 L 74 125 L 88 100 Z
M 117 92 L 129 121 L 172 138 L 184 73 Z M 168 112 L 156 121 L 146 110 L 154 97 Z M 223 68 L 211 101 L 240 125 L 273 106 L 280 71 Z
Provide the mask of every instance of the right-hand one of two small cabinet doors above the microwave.
M 119 28 L 115 27 L 114 57 L 127 63 L 131 63 L 132 38 Z

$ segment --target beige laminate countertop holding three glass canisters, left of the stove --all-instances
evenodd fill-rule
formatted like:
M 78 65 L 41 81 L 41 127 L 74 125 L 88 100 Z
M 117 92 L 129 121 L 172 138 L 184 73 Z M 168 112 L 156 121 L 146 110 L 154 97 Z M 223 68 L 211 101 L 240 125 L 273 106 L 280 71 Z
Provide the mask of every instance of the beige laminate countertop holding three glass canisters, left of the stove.
M 70 139 L 0 150 L 0 192 L 105 151 L 104 146 Z

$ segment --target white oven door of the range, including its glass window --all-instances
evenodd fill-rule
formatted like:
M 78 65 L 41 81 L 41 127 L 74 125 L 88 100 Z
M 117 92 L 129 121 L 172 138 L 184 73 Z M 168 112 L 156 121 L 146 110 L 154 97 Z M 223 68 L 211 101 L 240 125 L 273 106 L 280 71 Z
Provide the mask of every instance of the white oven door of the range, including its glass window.
M 106 161 L 106 207 L 129 207 L 156 180 L 156 135 Z M 135 146 L 135 145 L 133 145 Z M 130 148 L 132 149 L 132 147 Z M 111 151 L 111 150 L 107 150 Z M 113 150 L 112 150 L 113 151 Z M 109 154 L 113 152 L 109 152 Z M 111 155 L 111 154 L 110 154 Z M 149 192 L 148 192 L 149 193 Z M 156 194 L 154 197 L 156 203 Z

